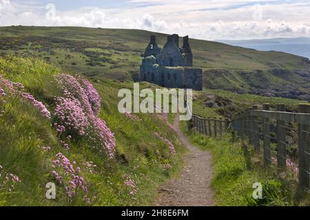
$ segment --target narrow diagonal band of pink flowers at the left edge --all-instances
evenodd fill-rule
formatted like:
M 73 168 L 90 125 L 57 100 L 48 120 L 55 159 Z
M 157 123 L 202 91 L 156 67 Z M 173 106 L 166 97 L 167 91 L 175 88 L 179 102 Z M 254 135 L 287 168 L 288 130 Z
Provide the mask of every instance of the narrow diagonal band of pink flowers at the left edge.
M 50 111 L 45 107 L 45 105 L 42 102 L 39 102 L 36 100 L 32 94 L 25 93 L 23 91 L 24 87 L 21 83 L 13 83 L 10 80 L 4 79 L 0 75 L 0 85 L 3 87 L 6 87 L 11 95 L 21 95 L 25 100 L 28 100 L 30 103 L 32 103 L 33 107 L 36 109 L 39 109 L 41 112 L 41 115 L 44 117 L 50 119 Z M 3 88 L 0 87 L 0 96 L 6 96 L 6 92 Z

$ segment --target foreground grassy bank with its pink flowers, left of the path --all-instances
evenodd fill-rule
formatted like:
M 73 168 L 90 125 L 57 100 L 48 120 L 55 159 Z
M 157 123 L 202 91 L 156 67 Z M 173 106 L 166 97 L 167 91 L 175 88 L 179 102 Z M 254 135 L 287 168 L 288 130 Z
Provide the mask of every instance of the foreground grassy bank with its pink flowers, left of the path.
M 161 118 L 119 113 L 123 87 L 0 58 L 0 206 L 152 204 L 185 148 Z

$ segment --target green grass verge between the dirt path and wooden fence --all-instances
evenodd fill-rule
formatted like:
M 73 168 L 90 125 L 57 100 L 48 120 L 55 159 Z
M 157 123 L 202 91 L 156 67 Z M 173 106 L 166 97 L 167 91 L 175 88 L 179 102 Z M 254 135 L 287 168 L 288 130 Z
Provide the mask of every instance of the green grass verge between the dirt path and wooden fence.
M 297 191 L 293 172 L 281 172 L 275 165 L 266 169 L 253 146 L 234 140 L 231 134 L 214 139 L 188 131 L 186 123 L 182 129 L 193 144 L 211 151 L 214 166 L 211 187 L 216 192 L 218 206 L 309 206 L 309 195 L 307 198 Z M 256 182 L 262 184 L 262 199 L 252 197 Z

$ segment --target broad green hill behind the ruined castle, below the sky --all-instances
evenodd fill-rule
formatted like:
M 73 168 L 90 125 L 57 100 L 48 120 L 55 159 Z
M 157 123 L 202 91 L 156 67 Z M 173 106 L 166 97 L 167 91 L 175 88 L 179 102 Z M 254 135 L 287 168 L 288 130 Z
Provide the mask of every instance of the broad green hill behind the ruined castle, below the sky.
M 138 80 L 141 53 L 150 34 L 163 47 L 166 34 L 144 30 L 3 27 L 0 54 L 44 58 L 62 69 L 96 78 Z M 191 39 L 190 43 L 194 65 L 203 68 L 207 89 L 310 100 L 307 58 L 211 41 Z

